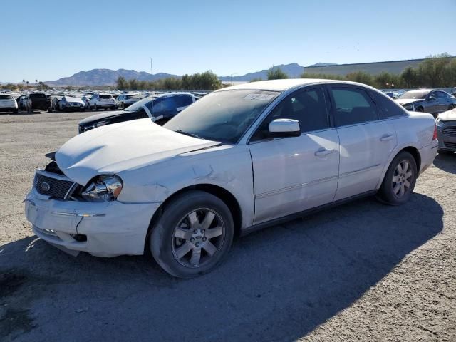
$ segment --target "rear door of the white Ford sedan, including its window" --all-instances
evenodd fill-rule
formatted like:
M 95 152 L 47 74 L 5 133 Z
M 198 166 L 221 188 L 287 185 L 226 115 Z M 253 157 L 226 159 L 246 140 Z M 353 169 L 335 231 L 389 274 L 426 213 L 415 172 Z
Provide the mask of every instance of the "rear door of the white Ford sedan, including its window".
M 341 145 L 338 200 L 375 190 L 397 138 L 366 89 L 346 84 L 328 88 Z

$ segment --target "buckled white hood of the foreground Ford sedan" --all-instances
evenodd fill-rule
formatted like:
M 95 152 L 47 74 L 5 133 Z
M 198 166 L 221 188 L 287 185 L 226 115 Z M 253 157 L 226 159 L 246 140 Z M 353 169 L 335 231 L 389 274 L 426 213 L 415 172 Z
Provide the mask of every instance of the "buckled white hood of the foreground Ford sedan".
M 176 133 L 146 118 L 76 135 L 56 152 L 56 162 L 67 177 L 86 185 L 96 175 L 117 174 L 214 145 L 219 142 Z

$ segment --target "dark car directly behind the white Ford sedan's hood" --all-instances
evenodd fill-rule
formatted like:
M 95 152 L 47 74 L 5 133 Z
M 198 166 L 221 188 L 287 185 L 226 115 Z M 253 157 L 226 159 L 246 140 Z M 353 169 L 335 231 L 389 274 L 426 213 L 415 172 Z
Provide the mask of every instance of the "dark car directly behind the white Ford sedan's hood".
M 163 125 L 196 100 L 195 96 L 190 93 L 149 96 L 130 105 L 125 110 L 89 116 L 79 122 L 78 131 L 83 133 L 111 123 L 121 123 L 142 118 L 151 118 L 157 125 Z

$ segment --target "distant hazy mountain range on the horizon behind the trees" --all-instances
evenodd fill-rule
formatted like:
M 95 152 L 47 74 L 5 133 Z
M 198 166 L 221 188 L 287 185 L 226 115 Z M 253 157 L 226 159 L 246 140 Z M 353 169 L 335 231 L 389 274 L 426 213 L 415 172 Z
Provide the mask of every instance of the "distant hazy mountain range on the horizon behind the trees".
M 335 66 L 333 63 L 316 63 L 312 66 Z M 297 78 L 304 71 L 304 66 L 300 66 L 298 63 L 281 64 L 276 66 L 281 68 L 290 78 Z M 267 79 L 268 69 L 256 71 L 253 73 L 246 73 L 245 75 L 239 76 L 222 76 L 221 81 L 235 81 L 235 82 L 248 82 L 254 78 Z M 133 78 L 138 81 L 156 81 L 160 78 L 167 77 L 180 77 L 178 75 L 172 75 L 170 73 L 146 73 L 145 71 L 135 70 L 110 70 L 110 69 L 93 69 L 89 71 L 80 71 L 75 73 L 73 76 L 59 78 L 56 81 L 46 81 L 48 86 L 53 87 L 64 87 L 64 86 L 114 86 L 119 76 L 125 77 L 127 80 Z

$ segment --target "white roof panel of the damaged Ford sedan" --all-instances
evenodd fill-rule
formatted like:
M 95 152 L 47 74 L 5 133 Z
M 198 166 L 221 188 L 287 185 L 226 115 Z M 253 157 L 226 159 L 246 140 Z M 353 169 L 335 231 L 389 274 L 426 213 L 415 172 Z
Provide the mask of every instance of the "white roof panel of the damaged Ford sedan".
M 300 86 L 308 86 L 315 83 L 345 83 L 353 86 L 366 86 L 366 84 L 351 82 L 351 81 L 340 81 L 340 80 L 326 80 L 319 78 L 289 78 L 285 80 L 270 80 L 270 81 L 257 81 L 238 84 L 237 86 L 222 88 L 217 91 L 223 90 L 269 90 L 269 91 L 285 91 Z

